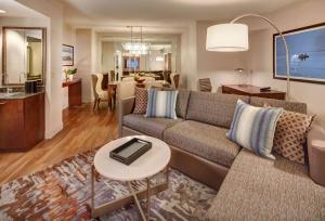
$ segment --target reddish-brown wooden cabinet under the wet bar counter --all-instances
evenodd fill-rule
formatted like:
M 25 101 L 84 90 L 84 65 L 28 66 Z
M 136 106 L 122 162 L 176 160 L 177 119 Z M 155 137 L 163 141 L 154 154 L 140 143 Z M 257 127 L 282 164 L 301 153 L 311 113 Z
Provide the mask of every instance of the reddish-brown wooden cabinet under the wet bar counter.
M 0 150 L 27 151 L 44 139 L 44 93 L 0 100 Z

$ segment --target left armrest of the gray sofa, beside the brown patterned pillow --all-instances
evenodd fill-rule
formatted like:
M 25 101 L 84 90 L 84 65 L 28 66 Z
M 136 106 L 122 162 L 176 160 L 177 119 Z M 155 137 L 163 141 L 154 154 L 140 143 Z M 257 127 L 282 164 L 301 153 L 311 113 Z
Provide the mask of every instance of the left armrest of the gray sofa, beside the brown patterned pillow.
M 135 96 L 128 99 L 121 99 L 118 101 L 118 136 L 121 136 L 121 128 L 123 123 L 123 116 L 129 115 L 133 112 L 135 104 Z

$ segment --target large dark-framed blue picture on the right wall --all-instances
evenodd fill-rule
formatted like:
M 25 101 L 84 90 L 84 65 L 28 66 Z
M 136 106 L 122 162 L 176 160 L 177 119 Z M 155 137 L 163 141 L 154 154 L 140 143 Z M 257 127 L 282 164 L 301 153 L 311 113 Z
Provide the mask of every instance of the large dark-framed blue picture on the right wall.
M 289 50 L 290 80 L 325 84 L 325 23 L 283 32 Z M 273 35 L 273 78 L 286 80 L 286 54 L 278 34 Z

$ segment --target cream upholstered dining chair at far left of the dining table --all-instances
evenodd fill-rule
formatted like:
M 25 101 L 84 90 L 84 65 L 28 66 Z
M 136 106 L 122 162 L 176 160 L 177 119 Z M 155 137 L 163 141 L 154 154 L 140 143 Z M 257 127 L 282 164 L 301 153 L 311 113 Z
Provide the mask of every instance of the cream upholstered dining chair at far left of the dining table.
M 92 91 L 95 98 L 93 109 L 99 108 L 101 101 L 108 101 L 107 91 L 102 89 L 103 74 L 92 74 L 91 75 L 91 83 Z

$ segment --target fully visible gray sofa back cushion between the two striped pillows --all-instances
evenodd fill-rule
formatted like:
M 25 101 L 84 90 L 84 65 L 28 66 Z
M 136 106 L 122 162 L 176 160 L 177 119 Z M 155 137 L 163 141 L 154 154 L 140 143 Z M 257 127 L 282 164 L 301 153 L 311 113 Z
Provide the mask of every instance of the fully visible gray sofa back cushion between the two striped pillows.
M 192 91 L 186 119 L 230 128 L 237 100 L 248 103 L 248 96 Z

